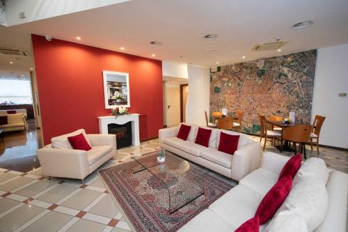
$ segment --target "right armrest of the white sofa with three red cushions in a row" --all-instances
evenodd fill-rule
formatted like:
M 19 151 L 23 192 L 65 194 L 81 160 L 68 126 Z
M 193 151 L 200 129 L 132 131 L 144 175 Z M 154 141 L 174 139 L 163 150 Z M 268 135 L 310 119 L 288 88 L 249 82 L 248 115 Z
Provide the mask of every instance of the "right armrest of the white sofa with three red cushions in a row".
M 241 180 L 260 165 L 261 146 L 257 141 L 249 141 L 248 144 L 235 151 L 231 164 L 231 178 Z

